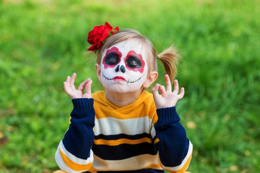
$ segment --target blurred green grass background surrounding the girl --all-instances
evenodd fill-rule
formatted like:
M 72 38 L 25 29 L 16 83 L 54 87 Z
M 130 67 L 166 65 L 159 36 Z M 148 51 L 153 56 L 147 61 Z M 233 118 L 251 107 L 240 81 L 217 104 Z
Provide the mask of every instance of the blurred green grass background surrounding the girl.
M 133 28 L 182 56 L 192 173 L 260 172 L 260 0 L 0 0 L 0 173 L 52 173 L 76 86 L 103 89 L 88 32 Z M 159 79 L 164 72 L 159 65 Z

